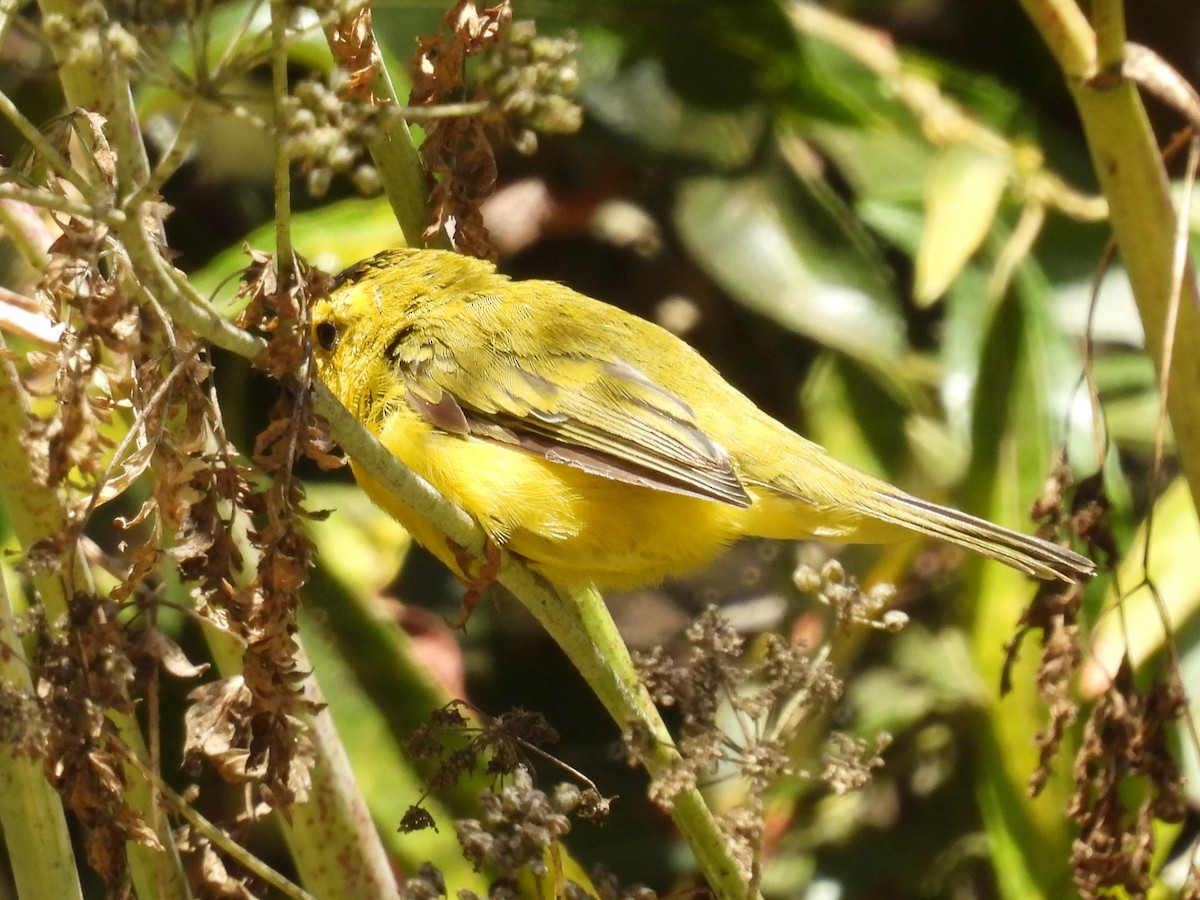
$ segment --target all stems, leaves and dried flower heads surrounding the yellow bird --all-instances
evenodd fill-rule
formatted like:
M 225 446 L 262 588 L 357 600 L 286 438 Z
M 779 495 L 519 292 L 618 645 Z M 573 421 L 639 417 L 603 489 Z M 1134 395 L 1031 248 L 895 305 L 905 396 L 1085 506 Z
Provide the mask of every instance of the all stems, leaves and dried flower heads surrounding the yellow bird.
M 1200 104 L 1126 12 L 0 0 L 0 895 L 1195 895 Z M 451 631 L 337 448 L 481 535 L 305 326 L 451 239 L 1102 576 L 505 557 Z

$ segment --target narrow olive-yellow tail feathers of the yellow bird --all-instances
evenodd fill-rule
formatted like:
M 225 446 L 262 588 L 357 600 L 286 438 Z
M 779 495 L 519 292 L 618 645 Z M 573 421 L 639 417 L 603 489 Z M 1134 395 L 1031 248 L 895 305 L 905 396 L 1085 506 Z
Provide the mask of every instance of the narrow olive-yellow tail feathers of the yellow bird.
M 1091 559 L 1042 538 L 908 494 L 880 492 L 876 499 L 880 504 L 871 510 L 876 518 L 982 553 L 1026 575 L 1075 583 L 1096 574 Z

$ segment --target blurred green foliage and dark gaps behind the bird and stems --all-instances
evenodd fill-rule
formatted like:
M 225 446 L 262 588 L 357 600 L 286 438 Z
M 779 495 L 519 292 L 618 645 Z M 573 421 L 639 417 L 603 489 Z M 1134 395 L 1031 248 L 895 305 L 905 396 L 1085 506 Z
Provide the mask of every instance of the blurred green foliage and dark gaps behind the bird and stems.
M 1134 594 L 1117 614 L 1122 598 L 1108 580 L 1091 587 L 1080 692 L 1102 689 L 1098 673 L 1126 653 L 1139 671 L 1159 666 L 1168 644 L 1195 677 L 1196 514 L 1186 490 L 1164 490 L 1174 476 L 1169 440 L 1164 481 L 1150 480 L 1160 427 L 1153 368 L 1120 268 L 1102 269 L 1104 206 L 1069 97 L 1018 4 L 514 6 L 540 34 L 577 35 L 586 119 L 577 134 L 542 138 L 530 155 L 502 154 L 484 214 L 505 271 L 559 280 L 664 324 L 840 458 L 1003 524 L 1032 528 L 1028 509 L 1057 452 L 1076 479 L 1099 473 L 1130 560 L 1122 583 L 1139 583 L 1148 564 L 1158 592 Z M 204 8 L 212 53 L 262 40 L 244 25 L 246 0 Z M 406 0 L 373 11 L 403 83 L 415 36 L 436 31 L 443 10 Z M 1141 0 L 1127 12 L 1133 36 L 1195 74 L 1194 4 Z M 186 37 L 176 23 L 162 47 L 181 71 L 194 65 Z M 0 89 L 35 121 L 56 114 L 54 73 L 35 31 L 14 29 L 4 54 Z M 296 79 L 328 72 L 319 30 L 295 44 L 290 66 Z M 224 90 L 269 120 L 265 67 Z M 180 97 L 146 82 L 136 101 L 154 154 Z M 1177 127 L 1156 114 L 1164 137 Z M 0 146 L 18 145 L 0 127 Z M 242 241 L 272 246 L 271 158 L 270 136 L 252 116 L 214 110 L 163 187 L 175 262 L 218 302 L 232 300 L 229 280 L 246 265 Z M 317 197 L 305 182 L 295 173 L 293 235 L 314 264 L 336 271 L 400 241 L 383 199 L 360 197 L 342 176 Z M 2 252 L 19 283 L 19 266 Z M 247 446 L 272 389 L 222 354 L 216 378 L 228 431 Z M 572 833 L 580 862 L 604 863 L 623 882 L 679 884 L 684 848 L 644 800 L 614 726 L 532 619 L 497 596 L 464 634 L 451 634 L 440 617 L 455 614 L 460 588 L 448 574 L 409 546 L 348 472 L 304 474 L 310 506 L 334 512 L 313 524 L 319 565 L 302 634 L 398 865 L 432 860 L 451 892 L 478 877 L 449 820 L 473 808 L 482 782 L 427 803 L 440 833 L 396 834 L 427 774 L 408 760 L 406 737 L 449 697 L 466 696 L 487 714 L 541 712 L 562 736 L 546 749 L 618 797 L 606 827 Z M 95 528 L 121 512 L 104 511 Z M 911 624 L 900 634 L 832 634 L 826 612 L 790 580 L 799 558 L 829 556 L 864 583 L 895 582 Z M 887 766 L 859 792 L 835 796 L 808 779 L 779 786 L 768 895 L 1057 898 L 1072 890 L 1075 827 L 1064 810 L 1079 726 L 1031 799 L 1033 737 L 1046 720 L 1033 640 L 1013 690 L 998 690 L 1004 643 L 1032 594 L 1024 578 L 944 547 L 750 545 L 712 572 L 610 600 L 636 648 L 671 646 L 713 602 L 748 635 L 835 641 L 846 695 L 806 726 L 802 768 L 820 766 L 832 722 L 866 738 L 893 736 Z M 181 617 L 176 628 L 184 647 L 203 655 L 197 626 Z M 164 708 L 184 692 L 164 697 Z M 1194 743 L 1184 734 L 1180 745 L 1196 773 Z M 538 768 L 547 780 L 560 776 Z M 720 782 L 712 798 L 738 802 Z M 1186 858 L 1193 834 L 1190 818 L 1165 828 L 1160 862 L 1172 846 Z M 271 838 L 260 841 L 270 853 Z M 1156 895 L 1170 895 L 1171 883 L 1157 880 Z

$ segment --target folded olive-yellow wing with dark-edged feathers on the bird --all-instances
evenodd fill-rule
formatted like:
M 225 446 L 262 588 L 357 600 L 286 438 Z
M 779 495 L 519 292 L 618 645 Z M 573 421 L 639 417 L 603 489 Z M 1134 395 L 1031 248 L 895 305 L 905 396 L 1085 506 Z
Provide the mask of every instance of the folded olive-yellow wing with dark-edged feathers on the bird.
M 539 352 L 523 354 L 511 340 L 478 338 L 503 331 L 462 322 L 419 334 L 402 330 L 386 353 L 406 400 L 434 426 L 600 478 L 750 505 L 728 454 L 691 407 L 610 347 L 532 341 Z

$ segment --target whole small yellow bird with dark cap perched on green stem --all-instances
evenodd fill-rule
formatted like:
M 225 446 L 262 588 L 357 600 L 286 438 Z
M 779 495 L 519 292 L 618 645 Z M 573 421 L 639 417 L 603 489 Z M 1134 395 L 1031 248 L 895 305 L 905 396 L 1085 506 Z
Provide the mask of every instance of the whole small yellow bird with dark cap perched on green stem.
M 838 462 L 664 329 L 491 263 L 395 250 L 313 310 L 317 373 L 410 469 L 562 586 L 634 587 L 738 538 L 928 534 L 1039 578 L 1086 557 Z M 352 460 L 353 466 L 353 460 Z M 445 538 L 361 468 L 367 493 L 451 569 Z

